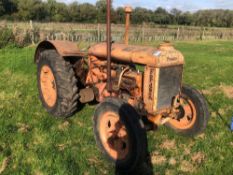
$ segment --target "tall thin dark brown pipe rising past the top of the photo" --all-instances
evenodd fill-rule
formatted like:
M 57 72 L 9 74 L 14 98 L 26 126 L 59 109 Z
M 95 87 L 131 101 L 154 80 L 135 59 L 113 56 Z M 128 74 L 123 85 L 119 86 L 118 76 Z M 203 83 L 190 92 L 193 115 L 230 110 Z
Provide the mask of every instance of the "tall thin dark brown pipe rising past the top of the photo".
M 112 77 L 111 77 L 111 0 L 107 0 L 107 90 L 112 92 Z

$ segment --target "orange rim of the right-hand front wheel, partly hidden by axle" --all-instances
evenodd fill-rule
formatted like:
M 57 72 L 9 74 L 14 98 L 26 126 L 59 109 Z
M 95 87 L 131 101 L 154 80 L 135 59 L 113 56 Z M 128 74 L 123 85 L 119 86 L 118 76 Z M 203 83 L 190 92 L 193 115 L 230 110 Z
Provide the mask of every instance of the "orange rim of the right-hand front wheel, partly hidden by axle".
M 182 108 L 183 116 L 180 119 L 172 119 L 169 123 L 181 130 L 192 128 L 197 119 L 197 110 L 194 103 L 188 98 L 181 97 L 180 107 Z

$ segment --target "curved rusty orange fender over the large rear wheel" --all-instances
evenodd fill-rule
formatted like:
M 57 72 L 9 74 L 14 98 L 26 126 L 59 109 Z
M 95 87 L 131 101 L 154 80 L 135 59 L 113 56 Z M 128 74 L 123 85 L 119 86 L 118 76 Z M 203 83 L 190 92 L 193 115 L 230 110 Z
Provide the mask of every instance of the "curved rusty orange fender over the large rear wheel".
M 40 53 L 47 49 L 55 49 L 61 57 L 83 57 L 86 54 L 81 52 L 74 42 L 70 41 L 42 41 L 36 48 L 34 61 L 38 63 Z

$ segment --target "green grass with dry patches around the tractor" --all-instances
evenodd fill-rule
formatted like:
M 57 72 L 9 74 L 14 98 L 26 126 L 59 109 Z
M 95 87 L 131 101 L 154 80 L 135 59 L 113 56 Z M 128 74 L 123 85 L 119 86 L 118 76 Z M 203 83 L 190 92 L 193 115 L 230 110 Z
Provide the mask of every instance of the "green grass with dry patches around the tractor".
M 232 175 L 233 133 L 225 122 L 229 125 L 233 115 L 233 42 L 175 45 L 186 57 L 184 83 L 206 95 L 211 119 L 206 132 L 196 138 L 178 136 L 165 127 L 148 133 L 154 174 Z M 95 145 L 95 106 L 86 105 L 66 121 L 42 108 L 34 50 L 0 50 L 0 174 L 115 174 Z

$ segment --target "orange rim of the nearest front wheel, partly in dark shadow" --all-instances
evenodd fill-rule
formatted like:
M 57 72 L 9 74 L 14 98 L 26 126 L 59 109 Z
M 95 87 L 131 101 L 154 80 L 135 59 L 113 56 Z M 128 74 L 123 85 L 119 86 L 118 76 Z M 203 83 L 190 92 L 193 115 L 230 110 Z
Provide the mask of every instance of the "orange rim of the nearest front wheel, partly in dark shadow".
M 114 160 L 124 160 L 129 153 L 129 137 L 119 115 L 106 112 L 100 117 L 100 139 Z

